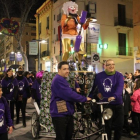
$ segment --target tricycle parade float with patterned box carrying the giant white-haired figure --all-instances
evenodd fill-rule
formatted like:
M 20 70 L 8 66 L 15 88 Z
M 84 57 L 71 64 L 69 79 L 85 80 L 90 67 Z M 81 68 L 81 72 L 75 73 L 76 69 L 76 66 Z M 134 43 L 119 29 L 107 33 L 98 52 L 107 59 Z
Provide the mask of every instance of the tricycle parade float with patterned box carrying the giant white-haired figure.
M 67 81 L 71 88 L 75 88 L 75 81 L 78 82 L 81 92 L 80 94 L 88 97 L 92 90 L 95 78 L 94 71 L 87 71 L 82 67 L 81 60 L 86 53 L 84 43 L 82 42 L 81 32 L 88 28 L 91 18 L 86 18 L 87 11 L 82 11 L 81 16 L 77 14 L 78 5 L 75 2 L 69 1 L 63 4 L 63 15 L 61 18 L 62 28 L 62 45 L 63 45 L 63 61 L 69 62 L 70 75 Z M 79 31 L 77 26 L 80 25 Z M 71 43 L 73 51 L 71 53 Z M 50 98 L 51 98 L 51 82 L 57 73 L 44 72 L 41 84 L 41 104 L 36 112 L 32 115 L 32 136 L 37 138 L 45 135 L 46 137 L 55 138 L 55 131 L 50 116 Z M 102 128 L 98 128 L 95 122 L 91 119 L 92 107 L 95 103 L 78 103 L 75 104 L 74 113 L 74 133 L 73 139 L 90 139 L 95 134 L 101 134 Z M 103 110 L 102 110 L 103 112 Z M 106 113 L 107 115 L 107 113 Z M 96 122 L 98 123 L 98 122 Z M 99 136 L 97 136 L 98 138 Z

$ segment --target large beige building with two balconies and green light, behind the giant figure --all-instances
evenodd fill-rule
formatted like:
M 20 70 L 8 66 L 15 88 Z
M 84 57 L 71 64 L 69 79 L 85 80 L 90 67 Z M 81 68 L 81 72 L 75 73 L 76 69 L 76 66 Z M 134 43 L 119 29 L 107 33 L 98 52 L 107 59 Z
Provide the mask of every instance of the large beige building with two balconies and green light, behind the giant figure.
M 67 0 L 52 1 L 52 9 L 45 12 L 47 0 L 38 10 L 42 10 L 40 14 L 41 23 L 41 39 L 46 36 L 49 38 L 50 51 L 50 69 L 57 70 L 57 64 L 62 58 L 61 30 L 60 20 L 63 3 Z M 132 0 L 75 0 L 78 4 L 78 14 L 82 10 L 88 11 L 88 17 L 96 18 L 97 24 L 100 25 L 100 34 L 98 43 L 89 43 L 87 41 L 88 31 L 85 32 L 85 49 L 91 55 L 98 53 L 100 62 L 95 64 L 96 72 L 103 70 L 103 63 L 107 59 L 113 59 L 116 64 L 116 70 L 125 73 L 134 71 L 134 55 L 133 55 L 133 2 Z M 51 3 L 51 2 L 50 2 Z M 45 6 L 46 4 L 46 6 Z M 44 7 L 44 8 L 43 8 Z M 44 14 L 43 14 L 44 12 Z M 42 16 L 41 16 L 42 15 Z M 50 23 L 52 24 L 49 30 L 46 30 L 46 18 L 50 15 Z M 44 20 L 43 20 L 44 19 Z M 44 24 L 44 25 L 43 25 Z M 36 24 L 38 26 L 38 24 Z M 45 35 L 45 31 L 47 34 Z M 108 48 L 100 46 L 107 44 Z M 43 45 L 42 45 L 43 46 Z M 43 48 L 42 48 L 43 49 Z M 45 50 L 44 50 L 45 51 Z M 46 60 L 45 60 L 46 61 Z M 44 66 L 42 64 L 42 68 Z M 46 69 L 44 69 L 46 70 Z

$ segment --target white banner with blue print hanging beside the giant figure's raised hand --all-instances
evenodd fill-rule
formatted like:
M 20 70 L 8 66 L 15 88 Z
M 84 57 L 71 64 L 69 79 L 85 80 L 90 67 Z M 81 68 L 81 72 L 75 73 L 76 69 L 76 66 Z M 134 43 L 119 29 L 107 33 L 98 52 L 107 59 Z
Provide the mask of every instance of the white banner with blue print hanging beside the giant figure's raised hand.
M 89 23 L 87 43 L 98 44 L 99 33 L 100 33 L 100 25 L 96 23 Z

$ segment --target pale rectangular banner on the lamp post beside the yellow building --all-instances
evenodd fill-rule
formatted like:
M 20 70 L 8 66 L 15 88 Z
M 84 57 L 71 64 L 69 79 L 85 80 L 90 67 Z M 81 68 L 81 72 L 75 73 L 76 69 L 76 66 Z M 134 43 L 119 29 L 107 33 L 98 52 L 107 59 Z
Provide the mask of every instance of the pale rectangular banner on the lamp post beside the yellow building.
M 29 55 L 38 54 L 38 42 L 29 42 Z

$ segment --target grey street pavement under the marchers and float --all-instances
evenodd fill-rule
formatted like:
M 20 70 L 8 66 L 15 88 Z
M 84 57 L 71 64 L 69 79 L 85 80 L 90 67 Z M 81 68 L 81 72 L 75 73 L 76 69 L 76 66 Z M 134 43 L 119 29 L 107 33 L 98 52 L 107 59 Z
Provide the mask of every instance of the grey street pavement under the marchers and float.
M 12 134 L 10 134 L 9 140 L 34 140 L 31 134 L 31 116 L 32 113 L 35 111 L 33 104 L 28 103 L 27 104 L 27 126 L 24 128 L 22 125 L 22 118 L 20 120 L 20 123 L 15 125 L 16 130 L 13 131 Z M 91 137 L 90 140 L 94 140 L 95 137 Z M 52 138 L 46 138 L 46 137 L 39 137 L 36 140 L 54 140 Z M 101 140 L 98 139 L 98 140 Z M 140 137 L 138 136 L 137 138 L 128 138 L 128 137 L 122 137 L 122 140 L 140 140 Z

